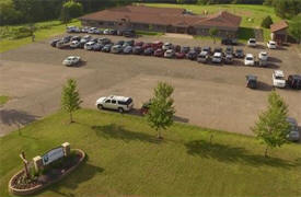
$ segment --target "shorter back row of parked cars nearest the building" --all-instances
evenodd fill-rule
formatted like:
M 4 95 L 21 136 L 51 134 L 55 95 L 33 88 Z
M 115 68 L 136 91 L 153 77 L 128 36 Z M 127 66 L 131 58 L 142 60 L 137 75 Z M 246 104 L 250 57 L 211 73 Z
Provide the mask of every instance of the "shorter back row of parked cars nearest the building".
M 67 26 L 66 28 L 67 33 L 88 33 L 88 34 L 96 34 L 96 35 L 119 35 L 125 37 L 135 37 L 136 33 L 134 30 L 112 30 L 112 28 L 105 28 L 101 30 L 97 27 L 78 27 L 78 26 Z

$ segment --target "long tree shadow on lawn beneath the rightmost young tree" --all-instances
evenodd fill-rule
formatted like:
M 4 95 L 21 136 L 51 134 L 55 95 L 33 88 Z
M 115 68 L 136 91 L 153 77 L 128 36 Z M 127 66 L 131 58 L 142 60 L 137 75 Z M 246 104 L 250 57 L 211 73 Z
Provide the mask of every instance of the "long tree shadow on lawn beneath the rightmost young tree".
M 185 143 L 187 153 L 206 159 L 215 159 L 220 162 L 242 163 L 252 166 L 268 165 L 274 167 L 293 167 L 297 163 L 278 158 L 265 158 L 264 155 L 250 154 L 244 148 L 230 147 L 219 143 L 210 143 L 205 140 L 195 140 Z

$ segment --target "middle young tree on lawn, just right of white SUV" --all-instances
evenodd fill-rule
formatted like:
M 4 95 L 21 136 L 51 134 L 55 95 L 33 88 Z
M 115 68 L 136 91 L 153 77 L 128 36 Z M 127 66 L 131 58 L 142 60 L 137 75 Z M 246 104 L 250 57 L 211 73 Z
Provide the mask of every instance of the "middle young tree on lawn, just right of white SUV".
M 173 99 L 171 97 L 174 89 L 165 82 L 159 82 L 154 89 L 154 96 L 147 115 L 148 121 L 158 132 L 158 138 L 162 139 L 161 130 L 166 129 L 173 124 L 175 113 Z

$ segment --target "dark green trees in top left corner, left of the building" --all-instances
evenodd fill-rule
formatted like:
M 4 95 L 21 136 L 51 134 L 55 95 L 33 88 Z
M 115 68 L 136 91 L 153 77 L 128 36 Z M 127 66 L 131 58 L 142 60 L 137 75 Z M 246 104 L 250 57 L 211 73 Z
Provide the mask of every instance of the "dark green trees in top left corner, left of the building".
M 131 3 L 131 0 L 1 0 L 1 25 L 34 23 L 61 18 L 63 8 L 71 8 L 70 18 L 101 9 Z M 72 12 L 74 4 L 82 7 L 81 12 Z M 65 5 L 65 7 L 63 7 Z

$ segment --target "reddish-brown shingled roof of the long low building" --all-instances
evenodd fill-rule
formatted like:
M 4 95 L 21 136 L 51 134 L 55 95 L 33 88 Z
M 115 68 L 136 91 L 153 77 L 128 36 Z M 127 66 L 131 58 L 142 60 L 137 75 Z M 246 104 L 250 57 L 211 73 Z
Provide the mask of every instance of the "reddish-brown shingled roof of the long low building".
M 127 19 L 136 23 L 174 25 L 174 26 L 220 26 L 238 28 L 241 18 L 219 12 L 209 16 L 184 14 L 184 9 L 152 8 L 144 5 L 127 5 L 86 14 L 81 20 L 121 21 Z

